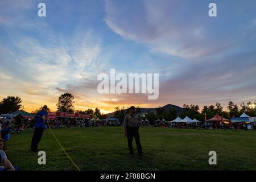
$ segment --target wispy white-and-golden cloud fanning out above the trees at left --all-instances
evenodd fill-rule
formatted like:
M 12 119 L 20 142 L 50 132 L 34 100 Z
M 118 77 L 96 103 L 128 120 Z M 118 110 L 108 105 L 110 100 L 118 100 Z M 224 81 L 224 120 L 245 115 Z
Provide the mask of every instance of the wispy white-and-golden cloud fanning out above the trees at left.
M 97 60 L 101 53 L 100 38 L 92 30 L 77 32 L 76 35 L 65 42 L 56 38 L 54 42 L 42 43 L 27 35 L 19 36 L 12 46 L 1 42 L 0 67 L 12 69 L 0 73 L 1 83 L 6 85 L 0 95 L 6 97 L 19 92 L 19 96 L 26 99 L 24 103 L 30 102 L 30 106 L 35 106 L 35 103 L 31 104 L 32 100 L 38 102 L 39 99 L 39 103 L 45 101 L 52 105 L 61 93 L 56 87 L 66 89 L 68 83 L 81 85 L 86 82 L 85 78 L 96 75 L 101 71 L 97 68 L 102 66 Z M 15 80 L 7 81 L 11 78 Z

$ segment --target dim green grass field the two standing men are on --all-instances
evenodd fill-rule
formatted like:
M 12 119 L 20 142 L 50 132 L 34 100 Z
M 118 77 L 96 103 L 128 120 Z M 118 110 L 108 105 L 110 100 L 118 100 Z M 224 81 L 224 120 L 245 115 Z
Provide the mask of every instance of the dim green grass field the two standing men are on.
M 256 170 L 256 131 L 211 131 L 141 127 L 144 158 L 129 157 L 122 127 L 54 129 L 65 150 L 82 170 Z M 47 164 L 39 165 L 30 151 L 32 130 L 13 134 L 6 153 L 20 170 L 76 170 L 49 130 L 39 150 Z M 134 141 L 134 149 L 136 145 Z M 209 165 L 209 151 L 217 165 Z

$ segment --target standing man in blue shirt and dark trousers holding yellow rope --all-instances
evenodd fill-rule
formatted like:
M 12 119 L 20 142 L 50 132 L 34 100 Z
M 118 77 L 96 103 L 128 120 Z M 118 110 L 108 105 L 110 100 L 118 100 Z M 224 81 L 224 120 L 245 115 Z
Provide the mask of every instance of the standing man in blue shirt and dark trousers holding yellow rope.
M 35 129 L 34 129 L 34 134 L 31 141 L 31 151 L 33 152 L 38 151 L 38 144 L 43 136 L 44 126 L 46 124 L 46 118 L 48 115 L 47 109 L 48 109 L 47 106 L 44 105 L 42 107 L 42 110 L 36 113 L 35 115 L 35 119 L 36 119 Z

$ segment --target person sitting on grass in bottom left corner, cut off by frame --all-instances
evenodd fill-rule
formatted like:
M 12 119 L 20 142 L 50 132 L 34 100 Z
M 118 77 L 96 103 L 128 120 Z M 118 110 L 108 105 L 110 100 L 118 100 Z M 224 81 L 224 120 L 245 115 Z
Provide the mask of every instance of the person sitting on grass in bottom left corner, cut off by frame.
M 14 167 L 10 160 L 7 159 L 5 151 L 3 151 L 4 146 L 4 140 L 0 139 L 0 171 L 15 171 L 18 167 Z

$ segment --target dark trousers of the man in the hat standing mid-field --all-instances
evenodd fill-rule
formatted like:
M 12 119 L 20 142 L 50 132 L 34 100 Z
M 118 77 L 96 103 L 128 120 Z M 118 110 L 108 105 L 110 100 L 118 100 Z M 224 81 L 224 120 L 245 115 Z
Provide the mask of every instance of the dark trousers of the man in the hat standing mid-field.
M 133 137 L 137 145 L 138 154 L 142 155 L 141 142 L 139 141 L 139 127 L 129 127 L 127 126 L 127 140 L 130 154 L 133 155 Z

